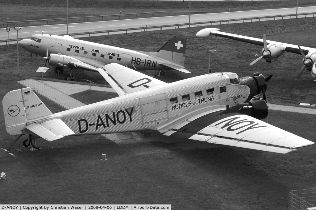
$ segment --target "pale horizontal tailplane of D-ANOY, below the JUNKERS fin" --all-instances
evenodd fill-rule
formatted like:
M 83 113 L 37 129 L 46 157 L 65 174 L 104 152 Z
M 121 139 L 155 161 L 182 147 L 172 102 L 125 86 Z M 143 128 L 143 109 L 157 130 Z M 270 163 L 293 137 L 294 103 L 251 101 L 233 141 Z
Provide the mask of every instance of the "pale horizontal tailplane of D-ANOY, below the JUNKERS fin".
M 52 119 L 45 122 L 34 122 L 26 126 L 28 130 L 47 141 L 54 141 L 75 134 L 62 120 Z

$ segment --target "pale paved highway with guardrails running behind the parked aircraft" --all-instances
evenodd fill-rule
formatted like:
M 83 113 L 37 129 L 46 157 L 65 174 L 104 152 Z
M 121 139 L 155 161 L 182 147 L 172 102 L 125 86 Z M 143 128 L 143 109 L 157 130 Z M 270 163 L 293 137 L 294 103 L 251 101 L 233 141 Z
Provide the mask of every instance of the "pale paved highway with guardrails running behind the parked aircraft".
M 298 8 L 298 13 L 311 13 L 316 11 L 315 7 L 301 7 Z M 210 13 L 210 14 L 193 14 L 191 15 L 191 23 L 205 22 L 205 21 L 216 21 L 216 20 L 229 20 L 235 18 L 251 18 L 251 17 L 262 17 L 272 15 L 284 15 L 284 14 L 295 14 L 296 8 L 285 8 L 285 9 L 265 9 L 265 10 L 253 10 L 253 11 L 240 11 L 240 12 L 224 12 L 224 13 Z M 80 32 L 93 32 L 93 31 L 106 31 L 106 30 L 118 30 L 118 29 L 129 29 L 137 27 L 147 26 L 161 26 L 170 24 L 188 23 L 189 15 L 180 16 L 167 16 L 167 17 L 153 17 L 153 18 L 140 18 L 140 19 L 128 19 L 128 20 L 111 20 L 111 21 L 98 21 L 98 22 L 87 22 L 87 23 L 73 23 L 68 24 L 69 33 L 80 33 Z M 33 34 L 52 33 L 55 35 L 66 34 L 66 24 L 60 25 L 45 25 L 45 26 L 29 26 L 22 27 L 19 31 L 19 38 L 30 37 Z M 0 29 L 0 40 L 8 38 L 8 32 L 5 28 Z M 16 31 L 11 28 L 9 31 L 9 39 L 16 38 Z

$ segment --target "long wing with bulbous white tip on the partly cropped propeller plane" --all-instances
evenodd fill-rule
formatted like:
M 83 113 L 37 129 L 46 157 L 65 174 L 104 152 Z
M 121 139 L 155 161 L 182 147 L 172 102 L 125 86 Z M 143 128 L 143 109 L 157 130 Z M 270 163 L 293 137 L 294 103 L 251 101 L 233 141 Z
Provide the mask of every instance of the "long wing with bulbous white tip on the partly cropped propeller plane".
M 218 31 L 218 30 L 219 30 L 218 28 L 205 28 L 205 29 L 202 29 L 201 31 L 197 32 L 197 37 L 207 37 L 210 35 L 215 35 L 217 37 L 223 37 L 223 38 L 233 39 L 233 40 L 240 41 L 240 42 L 264 46 L 263 39 L 258 39 L 258 38 L 254 38 L 254 37 L 246 37 L 246 36 L 241 36 L 241 35 L 237 35 L 237 34 L 222 32 L 222 31 Z M 296 53 L 296 54 L 301 54 L 300 49 L 298 48 L 297 45 L 267 40 L 267 45 L 269 45 L 271 43 L 280 43 L 282 45 L 282 48 L 285 51 L 291 52 L 291 53 Z M 316 51 L 315 48 L 308 48 L 308 47 L 304 47 L 304 46 L 301 46 L 301 49 L 303 50 L 305 55 L 307 55 L 311 51 L 312 52 Z

